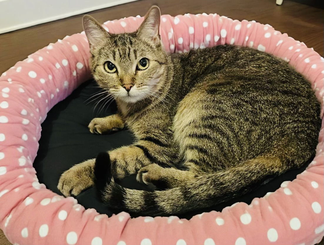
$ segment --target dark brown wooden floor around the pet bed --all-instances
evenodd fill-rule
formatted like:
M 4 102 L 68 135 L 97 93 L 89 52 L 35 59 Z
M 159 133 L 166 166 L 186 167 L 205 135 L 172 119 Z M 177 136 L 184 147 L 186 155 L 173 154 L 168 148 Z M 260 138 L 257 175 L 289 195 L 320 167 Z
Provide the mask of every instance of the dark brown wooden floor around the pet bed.
M 276 6 L 275 0 L 140 0 L 89 14 L 99 22 L 104 22 L 128 16 L 143 16 L 151 5 L 158 5 L 162 14 L 172 16 L 185 13 L 218 13 L 232 19 L 256 20 L 270 24 L 324 56 L 324 10 L 301 4 L 303 0 L 295 1 L 284 0 L 282 6 Z M 48 43 L 81 32 L 81 19 L 82 15 L 77 15 L 0 34 L 0 74 Z M 0 244 L 9 244 L 1 240 L 1 235 L 0 231 Z

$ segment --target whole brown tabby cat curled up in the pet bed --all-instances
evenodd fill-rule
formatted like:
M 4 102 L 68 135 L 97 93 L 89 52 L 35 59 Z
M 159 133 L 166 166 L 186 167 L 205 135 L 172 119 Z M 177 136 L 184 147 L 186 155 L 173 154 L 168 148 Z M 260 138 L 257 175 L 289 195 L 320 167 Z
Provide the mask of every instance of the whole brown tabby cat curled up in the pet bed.
M 58 189 L 65 196 L 96 183 L 107 206 L 181 214 L 245 194 L 314 156 L 320 106 L 301 74 L 268 53 L 233 45 L 168 55 L 159 25 L 157 6 L 134 33 L 108 33 L 84 16 L 91 72 L 118 106 L 116 115 L 94 118 L 90 132 L 127 126 L 136 140 L 64 172 Z M 158 190 L 114 181 L 133 173 Z

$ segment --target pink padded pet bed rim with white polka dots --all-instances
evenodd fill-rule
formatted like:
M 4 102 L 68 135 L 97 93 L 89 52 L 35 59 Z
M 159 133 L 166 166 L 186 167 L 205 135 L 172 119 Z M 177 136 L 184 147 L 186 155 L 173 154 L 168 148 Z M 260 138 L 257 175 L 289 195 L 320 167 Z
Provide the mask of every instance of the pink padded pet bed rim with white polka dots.
M 104 23 L 111 33 L 135 31 L 143 17 Z M 161 17 L 169 53 L 219 44 L 253 47 L 284 59 L 304 74 L 321 102 L 323 58 L 270 25 L 217 14 Z M 324 234 L 324 129 L 306 171 L 274 193 L 237 203 L 222 212 L 192 217 L 108 218 L 85 210 L 40 184 L 32 167 L 47 112 L 90 78 L 84 33 L 67 36 L 19 61 L 0 77 L 0 228 L 17 244 L 314 244 Z

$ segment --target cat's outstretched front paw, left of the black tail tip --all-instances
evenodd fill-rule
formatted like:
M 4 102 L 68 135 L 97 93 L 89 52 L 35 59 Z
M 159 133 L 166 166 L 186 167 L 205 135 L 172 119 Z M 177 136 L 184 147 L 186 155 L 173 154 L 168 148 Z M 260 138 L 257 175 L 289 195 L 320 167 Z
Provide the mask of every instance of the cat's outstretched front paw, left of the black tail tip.
M 57 188 L 64 196 L 76 196 L 93 186 L 94 164 L 95 159 L 90 159 L 74 165 L 61 175 Z

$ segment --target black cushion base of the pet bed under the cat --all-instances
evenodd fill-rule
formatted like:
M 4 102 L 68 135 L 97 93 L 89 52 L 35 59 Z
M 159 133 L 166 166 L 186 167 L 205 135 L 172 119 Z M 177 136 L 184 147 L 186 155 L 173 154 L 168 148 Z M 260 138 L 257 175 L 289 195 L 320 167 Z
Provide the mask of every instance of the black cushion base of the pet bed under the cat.
M 116 112 L 116 104 L 112 102 L 102 108 L 99 97 L 91 101 L 96 96 L 89 99 L 95 93 L 100 92 L 97 84 L 90 80 L 78 87 L 65 100 L 55 105 L 42 123 L 40 147 L 34 161 L 34 168 L 40 183 L 53 192 L 62 195 L 57 189 L 58 180 L 61 174 L 76 163 L 95 158 L 99 152 L 111 150 L 133 142 L 131 133 L 122 130 L 107 135 L 91 134 L 87 128 L 89 122 L 95 117 L 105 117 Z M 94 108 L 96 106 L 96 108 Z M 101 106 L 101 108 L 100 108 Z M 311 160 L 309 160 L 311 161 Z M 309 162 L 308 161 L 308 162 Z M 307 162 L 307 163 L 308 163 Z M 238 198 L 215 205 L 211 208 L 204 208 L 186 214 L 179 215 L 182 218 L 191 218 L 196 214 L 211 210 L 221 211 L 224 207 L 236 202 L 250 204 L 255 197 L 262 197 L 267 192 L 273 192 L 280 187 L 280 184 L 287 180 L 293 180 L 298 173 L 305 170 L 307 163 L 301 169 L 294 169 L 281 176 L 267 181 L 267 184 L 258 186 L 253 192 Z M 135 180 L 136 175 L 124 178 L 120 184 L 127 188 L 150 190 L 145 184 L 140 184 Z M 86 208 L 95 208 L 101 214 L 117 214 L 123 210 L 112 210 L 104 206 L 96 193 L 95 188 L 89 188 L 76 196 L 78 203 Z

